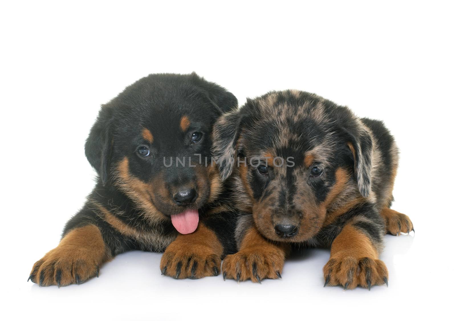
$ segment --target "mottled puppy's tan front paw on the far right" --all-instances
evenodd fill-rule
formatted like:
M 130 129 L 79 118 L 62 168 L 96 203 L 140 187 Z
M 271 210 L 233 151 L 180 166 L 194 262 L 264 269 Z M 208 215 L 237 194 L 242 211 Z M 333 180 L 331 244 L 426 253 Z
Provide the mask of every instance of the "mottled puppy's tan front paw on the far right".
M 325 285 L 342 285 L 344 290 L 357 286 L 367 287 L 385 284 L 388 286 L 388 269 L 381 260 L 369 257 L 345 256 L 332 258 L 323 268 Z

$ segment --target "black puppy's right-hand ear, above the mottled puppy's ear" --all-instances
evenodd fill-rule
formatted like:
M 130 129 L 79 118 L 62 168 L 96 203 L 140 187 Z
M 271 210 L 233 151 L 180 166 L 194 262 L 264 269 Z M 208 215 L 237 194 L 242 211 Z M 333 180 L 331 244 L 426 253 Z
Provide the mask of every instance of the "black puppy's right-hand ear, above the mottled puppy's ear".
M 237 98 L 234 97 L 234 95 L 228 90 L 217 85 L 215 82 L 205 80 L 203 77 L 198 76 L 195 72 L 192 72 L 190 76 L 192 77 L 193 83 L 207 93 L 208 99 L 218 110 L 219 115 L 238 108 Z

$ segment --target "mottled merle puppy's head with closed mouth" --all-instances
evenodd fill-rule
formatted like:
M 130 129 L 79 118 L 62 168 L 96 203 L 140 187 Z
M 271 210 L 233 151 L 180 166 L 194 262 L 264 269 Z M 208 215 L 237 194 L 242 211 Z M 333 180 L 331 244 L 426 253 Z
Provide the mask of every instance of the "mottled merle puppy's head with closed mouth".
M 213 131 L 222 179 L 275 241 L 315 236 L 328 213 L 371 190 L 372 140 L 347 107 L 297 90 L 270 92 L 223 115 Z

